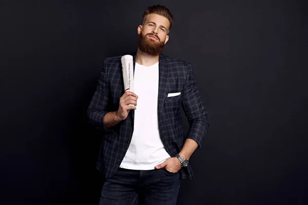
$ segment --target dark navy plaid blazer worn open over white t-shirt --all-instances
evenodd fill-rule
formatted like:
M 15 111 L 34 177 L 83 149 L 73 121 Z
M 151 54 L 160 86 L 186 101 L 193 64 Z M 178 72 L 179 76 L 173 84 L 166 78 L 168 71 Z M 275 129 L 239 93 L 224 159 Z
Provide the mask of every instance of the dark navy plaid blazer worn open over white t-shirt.
M 135 65 L 136 52 L 131 55 Z M 177 92 L 181 94 L 167 97 L 168 93 Z M 106 58 L 87 111 L 90 124 L 103 130 L 97 169 L 106 178 L 111 178 L 117 172 L 133 133 L 134 110 L 112 129 L 106 129 L 103 123 L 106 113 L 118 110 L 123 94 L 121 56 Z M 183 133 L 181 107 L 189 124 L 186 135 Z M 163 54 L 159 56 L 158 123 L 163 145 L 171 157 L 180 152 L 186 138 L 195 140 L 201 148 L 209 127 L 208 115 L 191 65 Z M 190 164 L 182 168 L 180 173 L 183 179 L 193 178 Z

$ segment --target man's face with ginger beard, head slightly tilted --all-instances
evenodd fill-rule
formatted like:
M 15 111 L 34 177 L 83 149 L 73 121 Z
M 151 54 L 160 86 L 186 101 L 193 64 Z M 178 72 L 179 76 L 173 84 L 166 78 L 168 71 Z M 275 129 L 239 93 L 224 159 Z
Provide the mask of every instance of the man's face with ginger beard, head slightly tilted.
M 168 18 L 158 14 L 148 14 L 144 25 L 138 27 L 138 48 L 150 55 L 159 55 L 169 36 Z

